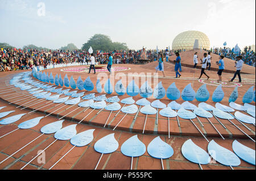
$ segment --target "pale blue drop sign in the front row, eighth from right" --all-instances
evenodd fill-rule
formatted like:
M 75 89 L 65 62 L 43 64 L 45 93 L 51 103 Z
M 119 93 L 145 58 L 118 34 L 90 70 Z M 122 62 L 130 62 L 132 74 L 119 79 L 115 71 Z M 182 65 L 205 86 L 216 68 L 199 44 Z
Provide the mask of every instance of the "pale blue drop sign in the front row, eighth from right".
M 58 140 L 69 140 L 76 135 L 76 125 L 72 124 L 65 128 L 60 129 L 54 134 L 54 137 Z

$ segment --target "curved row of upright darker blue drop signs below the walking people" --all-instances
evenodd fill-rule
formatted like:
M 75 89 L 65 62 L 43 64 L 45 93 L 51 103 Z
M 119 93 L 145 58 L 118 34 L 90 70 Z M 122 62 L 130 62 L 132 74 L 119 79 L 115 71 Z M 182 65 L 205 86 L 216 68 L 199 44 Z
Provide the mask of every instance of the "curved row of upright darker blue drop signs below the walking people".
M 65 87 L 72 87 L 72 89 L 78 88 L 79 90 L 87 90 L 87 91 L 92 91 L 94 89 L 93 82 L 90 80 L 90 77 L 86 78 L 85 81 L 82 81 L 81 77 L 77 79 L 77 82 L 73 79 L 73 76 L 71 76 L 71 79 L 69 81 L 68 75 L 66 74 L 64 79 L 61 78 L 61 75 L 58 74 L 55 75 L 55 78 L 53 78 L 52 73 L 48 76 L 48 73 L 46 74 L 45 72 L 42 73 L 40 71 L 34 72 L 33 73 L 34 77 L 39 79 L 42 82 L 46 83 L 55 83 L 56 86 L 65 86 Z M 102 92 L 102 85 L 99 79 L 97 79 L 96 82 L 96 89 L 97 92 L 101 93 Z M 104 85 L 104 90 L 107 94 L 112 94 L 113 93 L 113 86 L 110 83 L 110 79 L 105 83 Z M 131 81 L 129 85 L 126 87 L 123 86 L 122 84 L 122 79 L 119 80 L 115 87 L 114 91 L 118 95 L 124 95 L 127 93 L 127 95 L 130 96 L 136 96 L 136 95 L 141 95 L 143 98 L 149 98 L 150 96 L 154 96 L 155 99 L 162 99 L 164 96 L 167 96 L 168 99 L 171 100 L 177 100 L 180 98 L 185 100 L 185 101 L 192 101 L 194 99 L 200 101 L 200 102 L 206 102 L 209 97 L 209 91 L 207 90 L 207 85 L 203 85 L 195 92 L 192 89 L 191 83 L 189 83 L 181 92 L 179 89 L 177 89 L 175 82 L 172 83 L 167 91 L 164 89 L 162 82 L 159 82 L 158 85 L 155 87 L 154 91 L 148 85 L 148 82 L 144 82 L 143 85 L 141 86 L 141 89 L 136 85 L 135 81 Z M 213 92 L 212 95 L 212 100 L 213 102 L 221 102 L 221 100 L 224 98 L 224 91 L 222 90 L 221 85 L 219 85 L 216 90 Z M 229 102 L 235 102 L 238 98 L 238 87 L 234 89 L 232 94 L 229 97 Z M 254 86 L 250 87 L 249 90 L 243 95 L 243 103 L 251 103 L 255 102 L 255 91 L 254 91 Z

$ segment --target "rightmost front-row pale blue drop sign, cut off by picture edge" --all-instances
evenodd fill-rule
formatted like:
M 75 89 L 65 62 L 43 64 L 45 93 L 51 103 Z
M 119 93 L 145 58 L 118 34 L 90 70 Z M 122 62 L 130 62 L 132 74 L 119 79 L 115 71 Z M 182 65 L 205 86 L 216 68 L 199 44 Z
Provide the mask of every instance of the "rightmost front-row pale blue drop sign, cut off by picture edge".
M 232 149 L 243 161 L 255 165 L 255 150 L 241 144 L 237 140 L 233 141 Z

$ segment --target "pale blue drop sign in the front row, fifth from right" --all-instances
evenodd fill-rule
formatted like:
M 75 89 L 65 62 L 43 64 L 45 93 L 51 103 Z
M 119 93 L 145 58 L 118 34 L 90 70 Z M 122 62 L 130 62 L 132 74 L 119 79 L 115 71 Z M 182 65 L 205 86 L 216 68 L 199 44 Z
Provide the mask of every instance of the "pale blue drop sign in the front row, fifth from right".
M 139 157 L 146 152 L 146 146 L 134 135 L 122 144 L 121 152 L 127 157 Z

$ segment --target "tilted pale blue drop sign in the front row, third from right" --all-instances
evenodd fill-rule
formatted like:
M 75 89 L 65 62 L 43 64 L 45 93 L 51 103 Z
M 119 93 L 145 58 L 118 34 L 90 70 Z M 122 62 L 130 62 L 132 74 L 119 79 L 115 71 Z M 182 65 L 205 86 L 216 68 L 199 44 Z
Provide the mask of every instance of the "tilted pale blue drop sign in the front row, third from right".
M 210 162 L 210 157 L 207 151 L 194 144 L 191 139 L 184 142 L 181 147 L 181 153 L 193 163 L 206 165 Z

